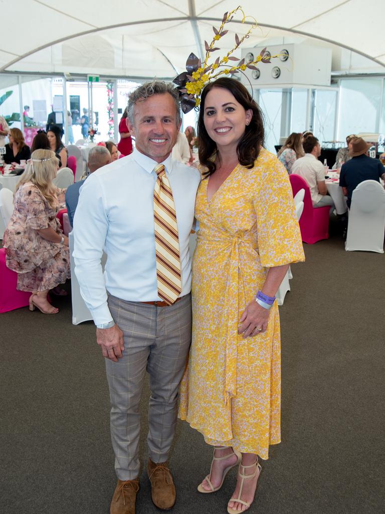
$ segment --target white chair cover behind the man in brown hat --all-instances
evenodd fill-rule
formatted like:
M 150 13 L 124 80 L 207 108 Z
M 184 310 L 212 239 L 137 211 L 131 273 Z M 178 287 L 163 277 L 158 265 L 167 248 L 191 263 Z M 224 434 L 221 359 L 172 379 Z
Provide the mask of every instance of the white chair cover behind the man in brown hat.
M 345 250 L 383 253 L 385 190 L 376 180 L 364 180 L 353 191 Z

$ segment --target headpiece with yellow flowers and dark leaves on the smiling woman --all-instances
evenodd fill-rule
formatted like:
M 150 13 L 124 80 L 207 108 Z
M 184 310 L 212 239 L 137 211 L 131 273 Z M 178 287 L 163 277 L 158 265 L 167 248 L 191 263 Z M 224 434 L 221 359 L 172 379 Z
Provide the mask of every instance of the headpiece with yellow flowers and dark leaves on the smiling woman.
M 231 22 L 234 15 L 238 11 L 242 13 L 242 23 L 245 22 L 246 16 L 241 6 L 238 6 L 233 11 L 225 12 L 219 29 L 213 27 L 213 41 L 211 41 L 210 44 L 208 44 L 207 41 L 204 42 L 206 57 L 203 64 L 201 60 L 191 52 L 186 61 L 186 71 L 183 71 L 180 75 L 178 75 L 178 77 L 176 77 L 176 79 L 174 79 L 173 82 L 174 84 L 177 84 L 181 95 L 182 111 L 185 114 L 191 111 L 192 108 L 199 107 L 201 102 L 201 91 L 208 82 L 217 79 L 221 75 L 234 75 L 236 73 L 243 72 L 246 68 L 255 70 L 257 69 L 255 64 L 259 62 L 271 64 L 271 59 L 279 57 L 279 55 L 270 56 L 268 53 L 265 56 L 266 48 L 263 48 L 257 59 L 247 63 L 245 63 L 244 58 L 238 59 L 238 57 L 232 56 L 232 53 L 243 43 L 245 39 L 249 37 L 249 34 L 257 27 L 256 19 L 252 16 L 247 16 L 251 17 L 253 20 L 251 28 L 244 36 L 242 36 L 242 38 L 239 38 L 238 34 L 235 34 L 235 47 L 227 52 L 226 55 L 222 58 L 218 57 L 213 64 L 208 64 L 211 52 L 220 50 L 220 48 L 215 46 L 217 41 L 223 38 L 223 36 L 228 32 L 228 30 L 224 30 L 226 23 Z M 227 64 L 228 61 L 237 61 L 238 64 Z M 219 67 L 224 67 L 224 69 L 218 70 Z

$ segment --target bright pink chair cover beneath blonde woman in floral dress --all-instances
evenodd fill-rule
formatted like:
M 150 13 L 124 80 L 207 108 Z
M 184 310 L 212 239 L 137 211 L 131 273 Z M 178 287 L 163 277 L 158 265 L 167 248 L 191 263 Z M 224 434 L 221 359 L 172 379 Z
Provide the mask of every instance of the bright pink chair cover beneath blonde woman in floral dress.
M 29 304 L 30 292 L 16 289 L 17 273 L 7 268 L 5 248 L 0 248 L 0 313 L 26 307 Z

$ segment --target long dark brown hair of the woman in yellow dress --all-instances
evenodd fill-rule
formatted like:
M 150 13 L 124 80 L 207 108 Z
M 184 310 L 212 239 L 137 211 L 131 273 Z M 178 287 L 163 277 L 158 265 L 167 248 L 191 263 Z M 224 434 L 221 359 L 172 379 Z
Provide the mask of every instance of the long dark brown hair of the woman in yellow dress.
M 215 87 L 227 89 L 239 102 L 242 107 L 252 109 L 253 117 L 249 125 L 245 126 L 245 133 L 237 146 L 238 161 L 245 168 L 254 167 L 254 161 L 259 155 L 261 146 L 264 143 L 263 115 L 257 103 L 249 95 L 243 84 L 235 79 L 220 78 L 215 82 L 210 82 L 205 86 L 201 95 L 201 105 L 198 118 L 198 138 L 199 138 L 199 161 L 203 166 L 207 167 L 206 177 L 212 175 L 217 169 L 215 162 L 210 160 L 217 150 L 217 145 L 207 134 L 204 126 L 204 103 L 207 93 Z

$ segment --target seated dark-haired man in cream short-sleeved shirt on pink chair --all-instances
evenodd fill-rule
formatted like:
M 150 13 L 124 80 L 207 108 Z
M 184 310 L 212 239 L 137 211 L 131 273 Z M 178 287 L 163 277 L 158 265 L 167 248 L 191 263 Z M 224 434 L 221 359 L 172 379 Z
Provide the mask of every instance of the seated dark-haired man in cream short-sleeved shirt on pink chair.
M 318 160 L 321 155 L 321 145 L 314 136 L 307 136 L 303 143 L 304 157 L 297 159 L 292 166 L 292 173 L 300 175 L 309 185 L 312 196 L 313 207 L 331 206 L 334 210 L 334 202 L 328 195 L 325 183 L 325 169 L 322 162 Z

